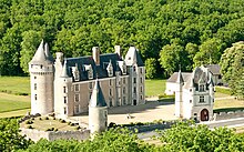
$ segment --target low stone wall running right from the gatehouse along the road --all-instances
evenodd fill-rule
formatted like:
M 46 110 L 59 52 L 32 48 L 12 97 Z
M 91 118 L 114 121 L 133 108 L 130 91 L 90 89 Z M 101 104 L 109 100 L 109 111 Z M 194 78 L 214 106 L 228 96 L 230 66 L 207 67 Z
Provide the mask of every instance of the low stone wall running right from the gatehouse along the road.
M 244 110 L 214 113 L 213 118 L 214 118 L 215 121 L 244 118 Z

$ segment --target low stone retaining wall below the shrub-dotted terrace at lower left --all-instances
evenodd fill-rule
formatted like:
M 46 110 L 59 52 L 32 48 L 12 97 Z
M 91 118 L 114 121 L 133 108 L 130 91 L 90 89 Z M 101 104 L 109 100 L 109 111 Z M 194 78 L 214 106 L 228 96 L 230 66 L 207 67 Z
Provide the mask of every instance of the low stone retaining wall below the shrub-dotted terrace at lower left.
M 26 135 L 28 139 L 37 142 L 40 139 L 47 139 L 49 141 L 59 139 L 75 139 L 75 140 L 87 140 L 90 138 L 90 130 L 82 131 L 39 131 L 35 129 L 24 129 L 21 128 L 21 134 Z

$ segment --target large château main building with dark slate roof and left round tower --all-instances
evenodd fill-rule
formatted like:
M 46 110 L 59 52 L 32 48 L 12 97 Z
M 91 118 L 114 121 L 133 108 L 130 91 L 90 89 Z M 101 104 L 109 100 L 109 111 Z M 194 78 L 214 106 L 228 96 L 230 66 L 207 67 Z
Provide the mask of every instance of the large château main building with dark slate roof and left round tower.
M 48 44 L 40 43 L 29 63 L 31 79 L 31 113 L 55 113 L 72 116 L 89 110 L 95 80 L 99 79 L 108 107 L 145 103 L 145 69 L 135 47 L 130 47 L 123 60 L 119 45 L 114 53 L 54 60 Z

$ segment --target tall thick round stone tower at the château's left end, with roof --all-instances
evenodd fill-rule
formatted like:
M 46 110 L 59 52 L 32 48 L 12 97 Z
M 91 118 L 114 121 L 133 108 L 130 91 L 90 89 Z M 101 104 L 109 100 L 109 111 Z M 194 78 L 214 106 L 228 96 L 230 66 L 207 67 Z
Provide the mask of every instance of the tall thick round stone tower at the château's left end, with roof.
M 31 114 L 53 112 L 53 58 L 48 44 L 40 43 L 29 63 L 31 84 Z

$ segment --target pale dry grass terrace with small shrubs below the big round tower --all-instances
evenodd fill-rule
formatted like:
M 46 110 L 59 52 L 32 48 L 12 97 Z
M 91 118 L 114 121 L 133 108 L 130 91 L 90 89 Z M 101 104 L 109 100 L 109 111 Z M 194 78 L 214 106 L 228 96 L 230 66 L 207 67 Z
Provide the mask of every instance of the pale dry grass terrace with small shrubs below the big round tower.
M 78 125 L 71 126 L 65 123 L 61 123 L 59 120 L 53 120 L 53 118 L 49 116 L 49 120 L 45 120 L 45 116 L 35 118 L 34 120 L 31 120 L 32 124 L 26 124 L 26 121 L 20 124 L 22 128 L 28 128 L 29 125 L 33 126 L 37 130 L 47 131 L 48 129 L 54 128 L 59 131 L 75 131 Z

